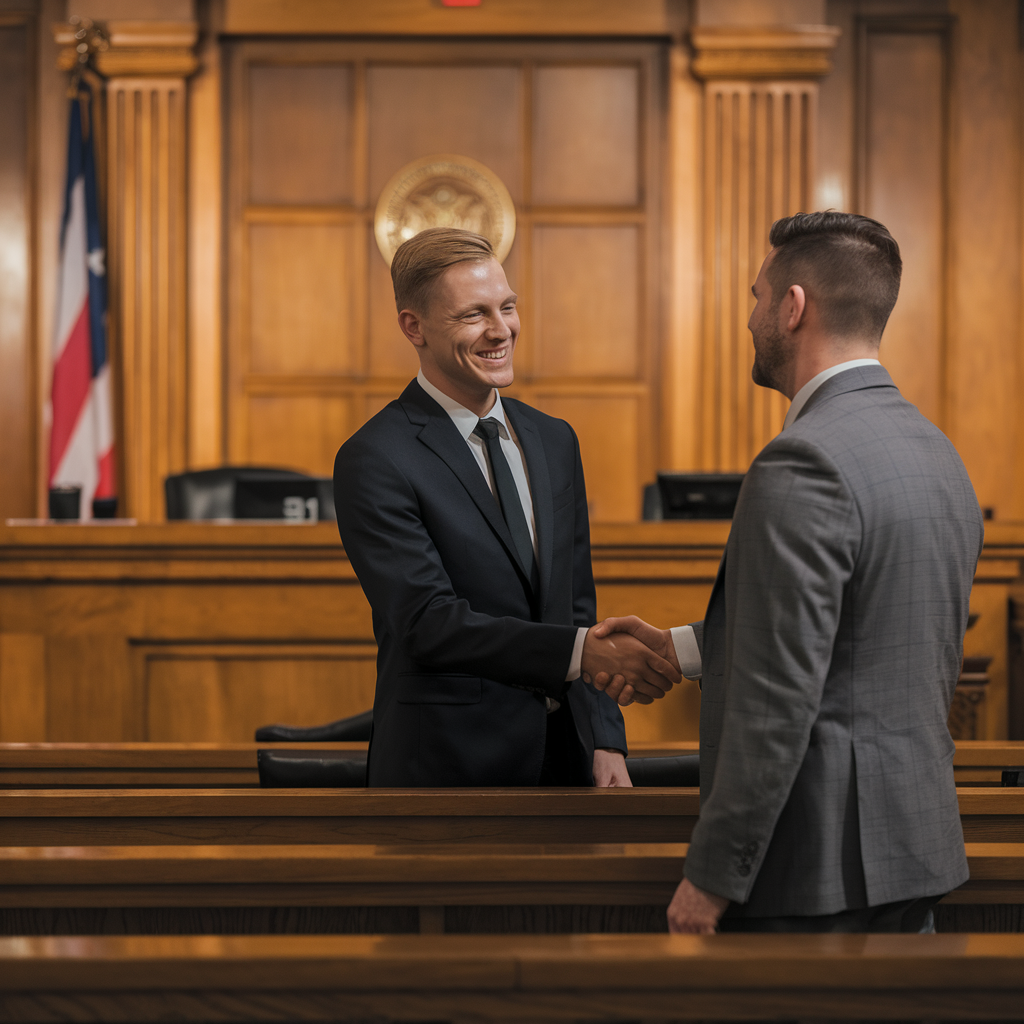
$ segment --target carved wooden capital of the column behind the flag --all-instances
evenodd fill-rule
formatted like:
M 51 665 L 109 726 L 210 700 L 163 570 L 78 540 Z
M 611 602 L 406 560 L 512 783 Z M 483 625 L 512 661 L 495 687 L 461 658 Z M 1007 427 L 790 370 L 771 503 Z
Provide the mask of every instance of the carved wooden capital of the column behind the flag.
M 92 65 L 106 78 L 184 78 L 199 67 L 196 22 L 108 22 L 103 30 L 108 45 L 94 54 Z M 71 71 L 78 61 L 75 31 L 70 24 L 53 27 L 61 71 Z

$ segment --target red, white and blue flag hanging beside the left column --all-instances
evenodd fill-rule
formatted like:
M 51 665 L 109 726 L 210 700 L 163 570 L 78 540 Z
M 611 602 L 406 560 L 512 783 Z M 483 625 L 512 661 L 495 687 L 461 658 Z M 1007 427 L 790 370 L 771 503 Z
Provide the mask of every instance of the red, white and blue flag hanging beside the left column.
M 68 181 L 53 335 L 50 486 L 80 485 L 82 518 L 88 519 L 92 500 L 114 498 L 117 490 L 92 93 L 84 82 L 75 93 L 68 126 Z

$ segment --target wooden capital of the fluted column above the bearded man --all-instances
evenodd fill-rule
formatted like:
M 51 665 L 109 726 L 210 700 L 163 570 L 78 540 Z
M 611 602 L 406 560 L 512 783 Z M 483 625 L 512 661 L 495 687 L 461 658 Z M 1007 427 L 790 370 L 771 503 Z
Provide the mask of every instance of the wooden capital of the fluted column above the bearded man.
M 690 30 L 700 79 L 824 78 L 841 30 L 830 25 Z

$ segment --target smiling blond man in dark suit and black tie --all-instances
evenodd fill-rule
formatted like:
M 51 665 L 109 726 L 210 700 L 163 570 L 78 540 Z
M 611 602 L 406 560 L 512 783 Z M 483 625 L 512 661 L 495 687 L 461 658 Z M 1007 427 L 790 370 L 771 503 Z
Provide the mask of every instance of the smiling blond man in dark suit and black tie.
M 614 700 L 676 669 L 598 639 L 583 466 L 567 423 L 501 399 L 516 296 L 489 243 L 431 228 L 395 253 L 420 374 L 345 444 L 335 505 L 378 644 L 369 783 L 629 785 Z

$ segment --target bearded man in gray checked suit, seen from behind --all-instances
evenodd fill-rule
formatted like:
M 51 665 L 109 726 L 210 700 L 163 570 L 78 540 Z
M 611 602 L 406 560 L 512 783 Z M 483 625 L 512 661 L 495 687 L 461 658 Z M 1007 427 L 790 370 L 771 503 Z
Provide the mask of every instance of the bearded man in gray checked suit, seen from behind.
M 770 241 L 753 376 L 793 403 L 743 481 L 705 620 L 602 627 L 702 676 L 700 818 L 669 925 L 930 930 L 968 878 L 946 718 L 982 515 L 878 361 L 902 268 L 890 233 L 828 212 Z

